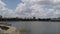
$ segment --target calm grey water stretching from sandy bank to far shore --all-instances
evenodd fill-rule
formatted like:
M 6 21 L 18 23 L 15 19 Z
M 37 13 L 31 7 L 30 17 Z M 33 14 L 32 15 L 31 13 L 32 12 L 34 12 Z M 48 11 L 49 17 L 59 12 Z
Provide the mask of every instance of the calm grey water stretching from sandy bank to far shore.
M 10 23 L 17 29 L 27 29 L 31 32 L 21 34 L 60 34 L 60 22 L 41 21 L 12 21 Z

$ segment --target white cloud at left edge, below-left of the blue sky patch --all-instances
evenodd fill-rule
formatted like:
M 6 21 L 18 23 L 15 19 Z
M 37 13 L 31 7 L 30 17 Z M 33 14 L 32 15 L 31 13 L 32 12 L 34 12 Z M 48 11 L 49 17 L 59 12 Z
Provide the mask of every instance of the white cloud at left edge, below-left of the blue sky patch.
M 13 10 L 6 8 L 6 4 L 0 0 L 0 15 L 3 17 L 16 17 Z

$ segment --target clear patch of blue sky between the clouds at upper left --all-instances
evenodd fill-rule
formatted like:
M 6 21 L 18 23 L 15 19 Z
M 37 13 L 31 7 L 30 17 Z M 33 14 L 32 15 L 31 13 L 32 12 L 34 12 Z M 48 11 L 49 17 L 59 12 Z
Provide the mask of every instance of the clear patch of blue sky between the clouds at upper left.
M 15 9 L 17 7 L 17 4 L 21 2 L 21 0 L 2 0 L 4 3 L 7 4 L 7 8 L 9 9 Z

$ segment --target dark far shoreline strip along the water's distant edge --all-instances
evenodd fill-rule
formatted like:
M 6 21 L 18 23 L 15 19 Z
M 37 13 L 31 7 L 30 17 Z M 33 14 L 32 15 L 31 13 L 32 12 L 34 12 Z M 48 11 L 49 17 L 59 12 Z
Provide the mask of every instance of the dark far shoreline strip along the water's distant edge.
M 60 22 L 60 19 L 51 19 L 51 18 L 47 18 L 47 19 L 22 19 L 22 18 L 0 18 L 0 21 L 43 21 L 43 22 Z

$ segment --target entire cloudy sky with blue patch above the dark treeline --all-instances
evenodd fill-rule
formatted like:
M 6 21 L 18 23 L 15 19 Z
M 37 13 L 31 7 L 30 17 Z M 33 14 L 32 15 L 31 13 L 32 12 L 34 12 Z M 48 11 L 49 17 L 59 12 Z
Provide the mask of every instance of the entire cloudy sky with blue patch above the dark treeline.
M 3 17 L 60 17 L 60 0 L 0 0 Z

